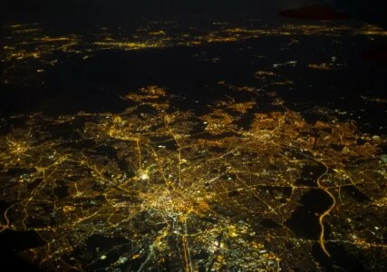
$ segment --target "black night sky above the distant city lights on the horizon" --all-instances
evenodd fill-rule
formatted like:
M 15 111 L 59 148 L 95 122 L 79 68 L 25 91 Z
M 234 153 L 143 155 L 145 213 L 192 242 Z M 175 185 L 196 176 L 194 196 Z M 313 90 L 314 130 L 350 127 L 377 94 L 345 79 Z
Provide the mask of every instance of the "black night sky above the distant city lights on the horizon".
M 2 22 L 53 23 L 121 21 L 131 18 L 185 18 L 255 15 L 278 19 L 279 11 L 303 3 L 331 3 L 344 13 L 365 22 L 387 26 L 383 0 L 8 0 L 2 3 Z

